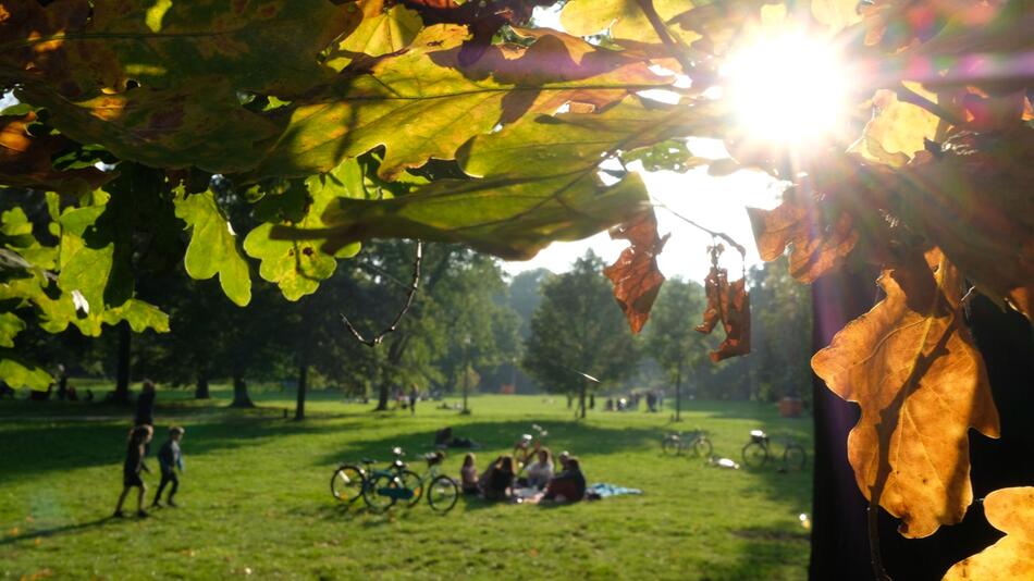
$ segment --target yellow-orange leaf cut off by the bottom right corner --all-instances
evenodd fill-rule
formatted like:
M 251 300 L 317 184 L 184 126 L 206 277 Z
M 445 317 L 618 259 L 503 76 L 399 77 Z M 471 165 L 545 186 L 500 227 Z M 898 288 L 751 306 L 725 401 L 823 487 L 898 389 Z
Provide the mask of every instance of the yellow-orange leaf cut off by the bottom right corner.
M 955 564 L 945 581 L 1034 579 L 1034 486 L 1000 489 L 984 498 L 987 522 L 1006 534 Z

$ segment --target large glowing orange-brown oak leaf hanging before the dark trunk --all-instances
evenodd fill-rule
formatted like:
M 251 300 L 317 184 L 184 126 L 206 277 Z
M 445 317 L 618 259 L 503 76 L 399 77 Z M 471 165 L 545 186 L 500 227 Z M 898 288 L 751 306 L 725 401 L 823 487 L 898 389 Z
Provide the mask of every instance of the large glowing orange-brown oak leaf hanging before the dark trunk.
M 962 320 L 962 279 L 937 250 L 883 272 L 886 297 L 812 358 L 862 408 L 848 459 L 872 505 L 904 536 L 959 522 L 973 499 L 967 431 L 998 436 L 998 412 Z

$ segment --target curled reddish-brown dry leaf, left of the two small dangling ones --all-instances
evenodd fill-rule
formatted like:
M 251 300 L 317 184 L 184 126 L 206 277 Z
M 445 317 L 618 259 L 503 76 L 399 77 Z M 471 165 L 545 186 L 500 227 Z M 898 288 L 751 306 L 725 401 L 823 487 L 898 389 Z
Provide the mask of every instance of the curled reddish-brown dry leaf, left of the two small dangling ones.
M 657 234 L 657 217 L 652 208 L 611 228 L 612 239 L 623 238 L 631 243 L 613 264 L 603 269 L 603 274 L 614 283 L 614 297 L 632 333 L 639 333 L 647 323 L 664 283 L 664 274 L 657 268 L 657 255 L 669 236 Z

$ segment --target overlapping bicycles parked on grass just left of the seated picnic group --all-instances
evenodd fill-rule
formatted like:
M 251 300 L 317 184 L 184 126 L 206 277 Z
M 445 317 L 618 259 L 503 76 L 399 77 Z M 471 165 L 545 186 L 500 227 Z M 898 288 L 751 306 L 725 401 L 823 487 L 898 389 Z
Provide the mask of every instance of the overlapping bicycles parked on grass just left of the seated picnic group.
M 395 459 L 386 468 L 374 469 L 376 460 L 362 458 L 362 467 L 341 465 L 331 477 L 331 493 L 341 502 L 355 503 L 360 496 L 373 512 L 383 512 L 402 500 L 409 508 L 419 504 L 427 489 L 428 505 L 433 510 L 447 512 L 459 499 L 459 486 L 441 473 L 445 455 L 441 452 L 424 456 L 428 471 L 417 474 L 402 460 L 402 448 L 392 449 Z

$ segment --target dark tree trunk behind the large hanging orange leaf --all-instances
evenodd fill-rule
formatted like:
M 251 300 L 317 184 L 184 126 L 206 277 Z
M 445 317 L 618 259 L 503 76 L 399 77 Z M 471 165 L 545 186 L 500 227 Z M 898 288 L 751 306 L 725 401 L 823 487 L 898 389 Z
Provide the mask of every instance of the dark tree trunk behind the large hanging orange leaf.
M 873 277 L 826 276 L 813 285 L 814 341 L 825 346 L 842 323 L 873 304 Z M 1015 312 L 1004 312 L 984 297 L 972 302 L 968 318 L 984 357 L 995 405 L 1001 419 L 1001 438 L 970 434 L 973 497 L 992 491 L 1034 483 L 1034 338 L 1030 323 Z M 873 578 L 865 510 L 847 461 L 847 434 L 858 420 L 858 407 L 815 381 L 815 490 L 810 574 L 812 579 L 869 580 Z M 879 544 L 887 573 L 894 579 L 940 579 L 959 560 L 1001 536 L 992 528 L 978 503 L 959 524 L 941 527 L 926 539 L 904 539 L 898 522 L 879 515 Z

